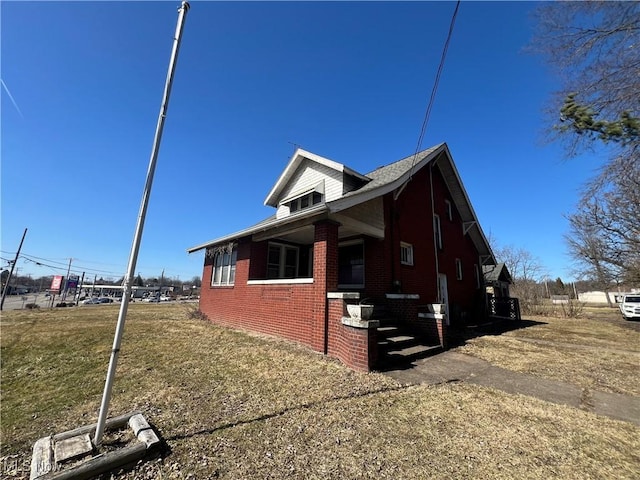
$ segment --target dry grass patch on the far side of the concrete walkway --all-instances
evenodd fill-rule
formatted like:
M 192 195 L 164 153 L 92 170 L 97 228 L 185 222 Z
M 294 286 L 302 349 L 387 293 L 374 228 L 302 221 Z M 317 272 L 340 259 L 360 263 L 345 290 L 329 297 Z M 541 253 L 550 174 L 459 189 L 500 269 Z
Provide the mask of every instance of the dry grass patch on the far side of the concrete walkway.
M 508 370 L 640 396 L 640 332 L 617 316 L 530 319 L 539 324 L 473 339 L 460 351 Z

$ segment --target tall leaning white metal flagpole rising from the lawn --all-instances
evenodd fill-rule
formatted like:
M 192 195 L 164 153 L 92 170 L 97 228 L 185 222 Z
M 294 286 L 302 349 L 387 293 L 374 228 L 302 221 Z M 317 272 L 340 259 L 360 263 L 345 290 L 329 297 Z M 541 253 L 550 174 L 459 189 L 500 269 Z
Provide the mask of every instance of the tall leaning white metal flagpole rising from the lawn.
M 124 333 L 124 323 L 127 317 L 127 309 L 129 307 L 129 297 L 131 295 L 131 282 L 136 269 L 138 260 L 138 251 L 140 250 L 140 241 L 142 239 L 142 230 L 144 228 L 144 219 L 147 214 L 147 205 L 149 204 L 149 195 L 151 194 L 151 185 L 153 184 L 153 174 L 156 169 L 156 160 L 158 159 L 158 150 L 160 149 L 160 140 L 162 139 L 162 130 L 164 128 L 164 120 L 167 116 L 167 108 L 169 106 L 169 95 L 171 94 L 171 86 L 173 84 L 173 75 L 175 71 L 176 61 L 178 59 L 178 51 L 180 49 L 180 41 L 182 39 L 182 28 L 189 11 L 189 3 L 182 2 L 178 9 L 178 24 L 173 39 L 173 49 L 171 51 L 171 59 L 169 61 L 169 71 L 167 72 L 167 80 L 162 96 L 162 105 L 160 106 L 160 114 L 158 115 L 158 124 L 156 134 L 153 141 L 153 149 L 151 150 L 151 158 L 149 160 L 149 169 L 147 170 L 147 181 L 142 193 L 142 201 L 140 202 L 140 212 L 138 214 L 138 223 L 136 225 L 133 244 L 131 246 L 131 254 L 129 256 L 129 266 L 124 279 L 122 303 L 120 304 L 120 314 L 118 315 L 118 324 L 113 339 L 113 349 L 111 350 L 111 359 L 109 361 L 109 369 L 107 371 L 107 379 L 104 385 L 104 393 L 102 395 L 102 403 L 100 405 L 100 415 L 98 417 L 98 425 L 96 426 L 96 434 L 93 443 L 97 446 L 102 442 L 102 434 L 104 433 L 105 422 L 107 419 L 107 410 L 109 409 L 109 401 L 111 400 L 111 388 L 113 387 L 113 377 L 115 375 L 116 365 L 118 364 L 118 354 L 120 353 L 120 344 L 122 342 L 122 334 Z

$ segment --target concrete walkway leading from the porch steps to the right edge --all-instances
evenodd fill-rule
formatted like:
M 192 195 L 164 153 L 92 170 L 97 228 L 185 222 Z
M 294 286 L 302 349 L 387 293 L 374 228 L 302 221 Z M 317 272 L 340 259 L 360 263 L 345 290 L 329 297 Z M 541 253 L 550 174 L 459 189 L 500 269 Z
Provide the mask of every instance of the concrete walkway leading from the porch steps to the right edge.
M 455 351 L 417 360 L 411 368 L 385 373 L 402 383 L 473 383 L 640 425 L 640 397 L 588 391 L 570 383 L 496 367 L 485 360 Z

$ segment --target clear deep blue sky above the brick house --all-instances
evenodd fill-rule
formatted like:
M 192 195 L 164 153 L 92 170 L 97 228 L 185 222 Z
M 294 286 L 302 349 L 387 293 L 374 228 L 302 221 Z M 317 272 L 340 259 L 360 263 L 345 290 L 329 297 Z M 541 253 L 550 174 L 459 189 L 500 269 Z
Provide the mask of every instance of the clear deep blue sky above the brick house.
M 178 6 L 0 4 L 3 267 L 27 227 L 49 266 L 20 274 L 124 274 Z M 191 2 L 136 272 L 201 275 L 186 249 L 269 216 L 293 144 L 361 173 L 412 154 L 454 7 Z M 544 142 L 533 8 L 461 4 L 422 147 L 448 143 L 487 235 L 568 280 L 563 215 L 602 159 Z

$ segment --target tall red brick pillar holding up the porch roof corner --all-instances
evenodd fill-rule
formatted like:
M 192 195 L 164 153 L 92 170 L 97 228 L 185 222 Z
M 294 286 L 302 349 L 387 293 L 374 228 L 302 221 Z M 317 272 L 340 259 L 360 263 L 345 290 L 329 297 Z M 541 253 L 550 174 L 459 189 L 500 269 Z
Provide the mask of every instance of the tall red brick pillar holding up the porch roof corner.
M 329 310 L 327 292 L 338 288 L 338 227 L 331 220 L 315 224 L 313 244 L 313 345 L 327 353 L 329 341 Z

